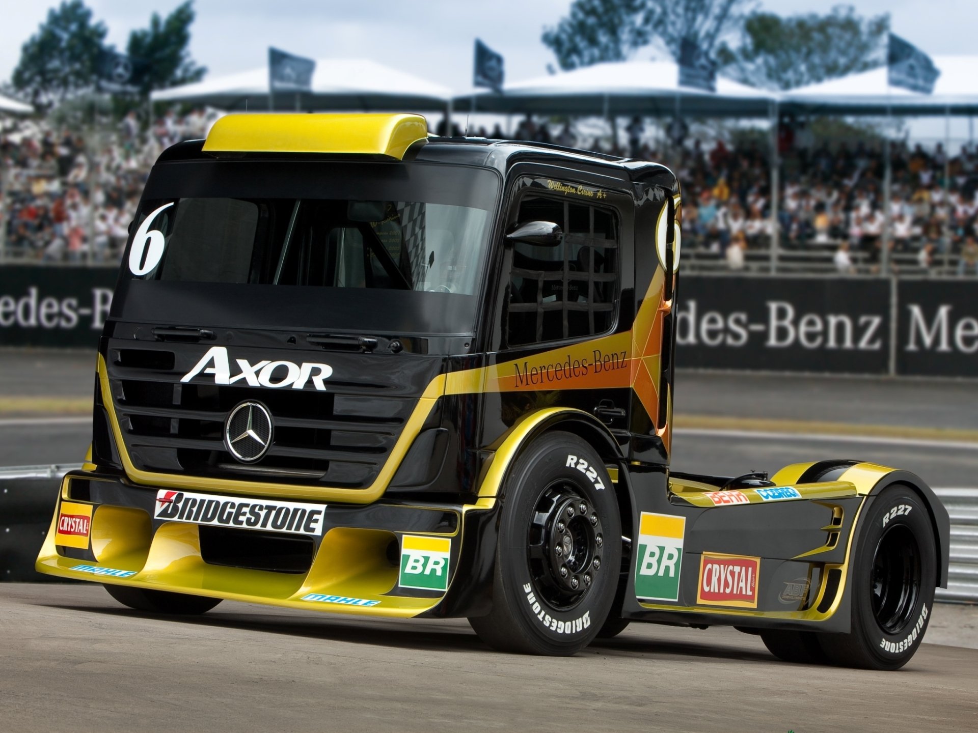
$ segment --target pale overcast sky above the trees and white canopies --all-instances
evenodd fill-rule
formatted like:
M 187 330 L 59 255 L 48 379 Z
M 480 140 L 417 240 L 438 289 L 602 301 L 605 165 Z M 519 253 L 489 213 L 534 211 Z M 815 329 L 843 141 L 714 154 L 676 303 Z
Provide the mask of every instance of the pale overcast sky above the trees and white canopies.
M 37 30 L 53 2 L 4 0 L 0 23 L 0 80 L 9 80 L 22 43 Z M 88 0 L 119 48 L 129 31 L 145 27 L 154 10 L 165 15 L 178 0 Z M 546 25 L 566 13 L 570 0 L 197 0 L 191 52 L 210 74 L 266 65 L 268 46 L 312 58 L 370 58 L 456 91 L 472 73 L 478 36 L 506 58 L 508 81 L 538 76 L 554 62 L 540 41 Z M 824 12 L 830 3 L 767 0 L 781 14 Z M 865 16 L 889 12 L 894 32 L 930 54 L 971 54 L 978 32 L 976 0 L 860 0 Z M 651 52 L 640 52 L 647 58 Z

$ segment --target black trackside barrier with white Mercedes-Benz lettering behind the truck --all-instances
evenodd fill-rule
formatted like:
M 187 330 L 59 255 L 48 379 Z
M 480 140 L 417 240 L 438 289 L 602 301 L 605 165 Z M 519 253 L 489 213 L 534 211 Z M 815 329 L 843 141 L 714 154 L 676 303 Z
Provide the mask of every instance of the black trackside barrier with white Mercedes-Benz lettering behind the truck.
M 0 267 L 0 344 L 94 348 L 113 268 Z M 978 377 L 978 280 L 682 275 L 678 367 Z

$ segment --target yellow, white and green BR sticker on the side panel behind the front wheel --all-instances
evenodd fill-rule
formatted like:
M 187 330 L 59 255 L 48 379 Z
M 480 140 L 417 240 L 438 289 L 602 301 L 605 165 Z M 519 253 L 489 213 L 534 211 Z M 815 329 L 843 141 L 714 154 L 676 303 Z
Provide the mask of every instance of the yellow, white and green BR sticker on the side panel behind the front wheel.
M 686 517 L 642 512 L 635 595 L 646 601 L 679 600 Z

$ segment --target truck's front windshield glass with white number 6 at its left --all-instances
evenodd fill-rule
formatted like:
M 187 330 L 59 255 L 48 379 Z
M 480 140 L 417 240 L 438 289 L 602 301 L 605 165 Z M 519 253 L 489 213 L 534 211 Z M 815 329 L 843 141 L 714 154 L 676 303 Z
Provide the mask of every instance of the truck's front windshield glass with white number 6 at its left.
M 464 295 L 475 293 L 489 219 L 422 200 L 157 199 L 141 216 L 157 210 L 141 230 L 162 236 L 158 262 L 137 237 L 133 277 Z

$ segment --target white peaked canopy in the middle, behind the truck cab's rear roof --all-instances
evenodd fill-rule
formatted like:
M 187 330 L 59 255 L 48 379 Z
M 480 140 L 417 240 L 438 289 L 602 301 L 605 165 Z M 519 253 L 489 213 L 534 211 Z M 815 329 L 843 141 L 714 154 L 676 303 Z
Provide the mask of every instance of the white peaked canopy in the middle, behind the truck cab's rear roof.
M 717 91 L 679 84 L 671 61 L 606 62 L 508 84 L 501 93 L 474 91 L 453 99 L 456 110 L 534 114 L 648 114 L 767 117 L 778 96 L 717 76 Z

